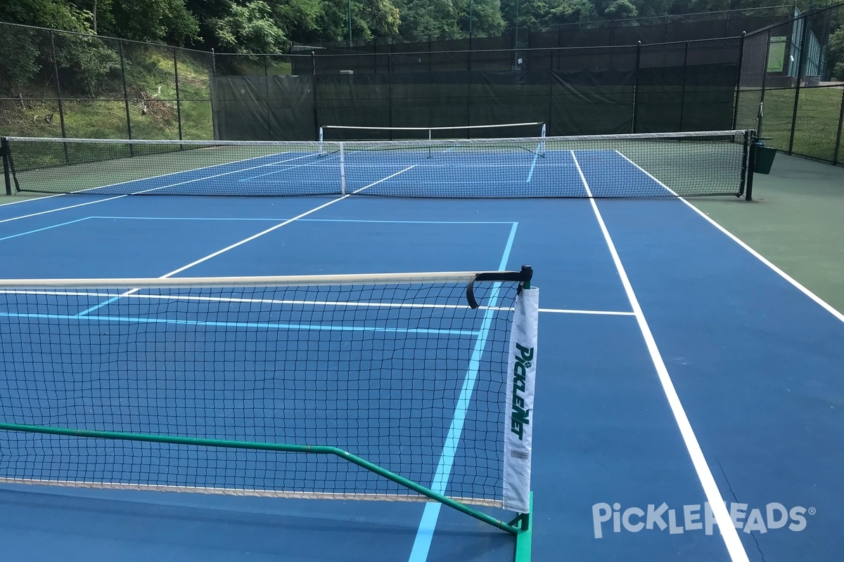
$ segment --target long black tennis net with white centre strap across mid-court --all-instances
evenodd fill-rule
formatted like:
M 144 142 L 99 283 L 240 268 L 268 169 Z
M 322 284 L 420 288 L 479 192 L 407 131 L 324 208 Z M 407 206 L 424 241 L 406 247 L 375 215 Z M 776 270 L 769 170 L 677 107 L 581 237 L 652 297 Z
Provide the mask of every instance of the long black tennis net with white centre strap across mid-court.
M 390 142 L 8 137 L 3 152 L 10 187 L 48 193 L 740 196 L 752 139 L 752 131 Z

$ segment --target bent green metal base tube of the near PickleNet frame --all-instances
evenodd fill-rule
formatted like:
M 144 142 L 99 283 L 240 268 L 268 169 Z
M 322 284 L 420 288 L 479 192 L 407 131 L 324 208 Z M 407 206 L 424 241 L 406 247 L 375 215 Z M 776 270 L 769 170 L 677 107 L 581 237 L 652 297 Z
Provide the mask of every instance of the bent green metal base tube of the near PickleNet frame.
M 420 484 L 416 484 L 412 480 L 408 480 L 403 476 L 392 473 L 386 468 L 381 468 L 377 464 L 370 463 L 365 458 L 360 458 L 350 452 L 344 451 L 339 447 L 325 447 L 316 445 L 288 445 L 284 443 L 262 443 L 262 442 L 241 442 L 241 441 L 226 441 L 222 439 L 202 439 L 198 437 L 177 437 L 177 436 L 160 436 L 147 435 L 143 433 L 123 433 L 121 431 L 93 431 L 93 430 L 79 430 L 62 427 L 46 427 L 46 426 L 27 426 L 24 424 L 5 424 L 0 423 L 0 431 L 22 431 L 26 433 L 40 433 L 48 435 L 61 435 L 72 437 L 86 437 L 89 439 L 111 439 L 118 441 L 138 441 L 149 443 L 168 443 L 171 445 L 190 445 L 193 447 L 219 447 L 232 449 L 251 449 L 254 451 L 274 451 L 274 452 L 302 452 L 311 454 L 334 455 L 365 468 L 372 473 L 378 474 L 383 478 L 392 480 L 408 490 L 413 490 L 421 495 L 425 495 L 431 500 L 435 500 L 446 506 L 452 507 L 457 511 L 461 511 L 469 517 L 474 517 L 479 521 L 487 523 L 493 527 L 500 528 L 507 533 L 519 535 L 522 529 L 515 527 L 513 523 L 506 523 L 495 519 L 482 511 L 475 510 L 465 504 L 446 495 L 438 494 L 433 490 L 429 490 Z M 517 518 L 518 521 L 521 521 Z M 523 523 L 522 523 L 523 525 Z

